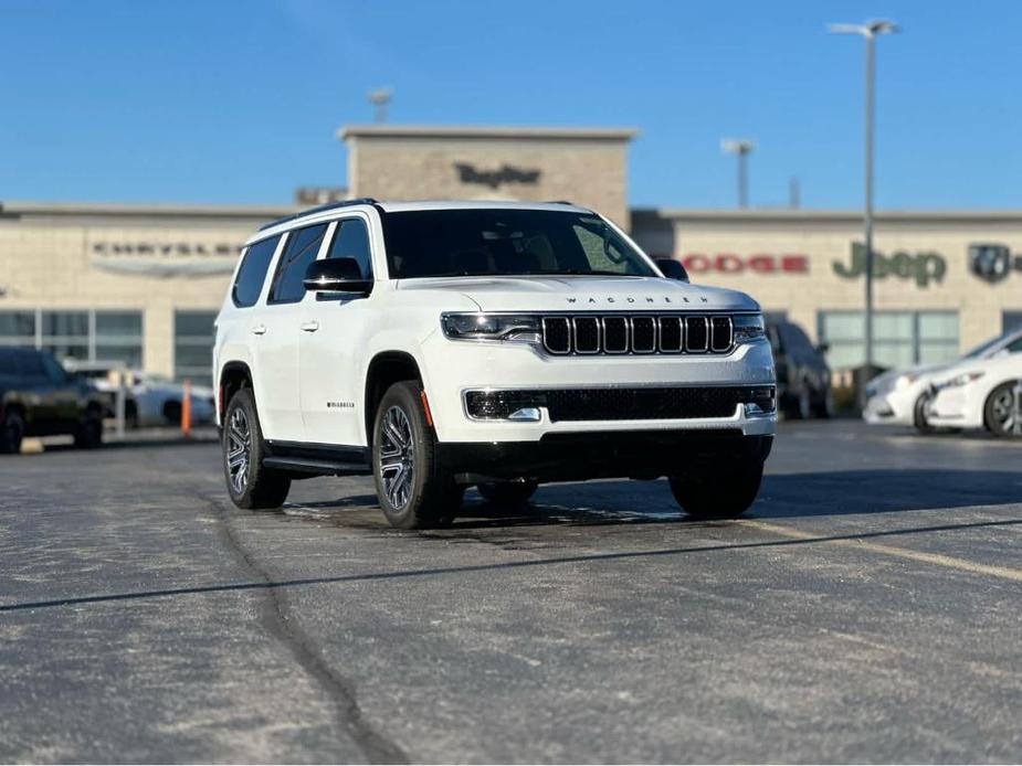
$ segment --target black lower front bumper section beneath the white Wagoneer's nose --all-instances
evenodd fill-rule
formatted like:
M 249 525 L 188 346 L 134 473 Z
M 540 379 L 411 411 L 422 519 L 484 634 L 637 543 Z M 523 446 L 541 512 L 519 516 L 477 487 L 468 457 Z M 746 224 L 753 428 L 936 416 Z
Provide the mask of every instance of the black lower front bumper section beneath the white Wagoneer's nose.
M 772 445 L 773 436 L 744 436 L 737 428 L 590 432 L 548 434 L 539 441 L 441 441 L 436 456 L 463 483 L 656 479 L 740 469 L 766 460 Z

